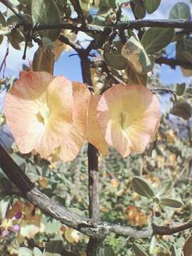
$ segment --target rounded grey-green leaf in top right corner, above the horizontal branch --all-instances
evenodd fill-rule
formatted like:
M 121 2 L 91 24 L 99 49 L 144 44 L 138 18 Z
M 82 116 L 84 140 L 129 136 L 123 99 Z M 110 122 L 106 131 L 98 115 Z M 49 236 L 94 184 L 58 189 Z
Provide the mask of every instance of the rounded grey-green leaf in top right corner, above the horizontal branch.
M 181 2 L 174 5 L 169 13 L 171 19 L 191 19 L 191 10 L 188 4 Z

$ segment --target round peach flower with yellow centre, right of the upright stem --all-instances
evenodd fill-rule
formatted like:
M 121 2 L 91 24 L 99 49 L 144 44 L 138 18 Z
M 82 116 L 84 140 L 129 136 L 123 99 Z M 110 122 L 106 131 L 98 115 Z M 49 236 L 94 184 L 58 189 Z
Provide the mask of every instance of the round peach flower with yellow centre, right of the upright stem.
M 156 133 L 159 100 L 142 85 L 114 85 L 98 102 L 97 120 L 106 142 L 123 157 L 142 153 Z

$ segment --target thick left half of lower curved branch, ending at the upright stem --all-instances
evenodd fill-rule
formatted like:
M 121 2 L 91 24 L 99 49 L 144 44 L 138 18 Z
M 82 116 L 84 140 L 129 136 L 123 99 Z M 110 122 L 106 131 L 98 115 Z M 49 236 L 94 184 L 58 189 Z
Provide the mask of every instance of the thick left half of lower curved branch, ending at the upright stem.
M 70 212 L 70 210 L 60 206 L 57 202 L 53 201 L 53 199 L 50 199 L 45 194 L 41 193 L 41 191 L 39 191 L 30 181 L 28 176 L 23 173 L 15 161 L 11 159 L 11 156 L 9 156 L 1 144 L 0 166 L 11 182 L 13 182 L 19 191 L 21 191 L 23 198 L 28 199 L 28 201 L 41 208 L 41 210 L 45 210 L 49 215 L 53 216 L 53 218 L 78 230 L 81 226 L 86 227 L 93 225 L 88 218 Z

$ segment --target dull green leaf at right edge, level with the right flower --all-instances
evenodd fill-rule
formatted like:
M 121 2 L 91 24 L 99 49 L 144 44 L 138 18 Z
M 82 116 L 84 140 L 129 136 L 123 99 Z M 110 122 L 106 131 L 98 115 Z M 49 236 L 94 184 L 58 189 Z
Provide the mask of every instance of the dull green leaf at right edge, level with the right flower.
M 189 105 L 187 102 L 176 103 L 170 113 L 188 120 L 192 113 L 191 105 Z

